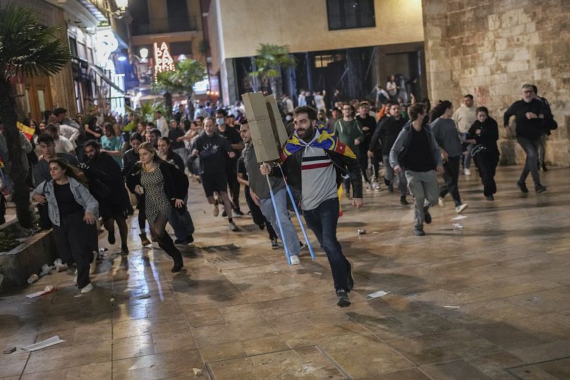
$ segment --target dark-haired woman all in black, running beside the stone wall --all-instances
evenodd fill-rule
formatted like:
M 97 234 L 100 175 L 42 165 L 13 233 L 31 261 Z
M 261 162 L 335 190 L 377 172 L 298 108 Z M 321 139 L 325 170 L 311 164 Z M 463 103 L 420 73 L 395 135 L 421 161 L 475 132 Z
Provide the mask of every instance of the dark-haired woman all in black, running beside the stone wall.
M 476 111 L 477 120 L 468 131 L 468 138 L 475 140 L 471 155 L 483 182 L 483 194 L 487 200 L 492 201 L 495 200 L 493 195 L 497 192 L 495 170 L 499 164 L 499 149 L 497 148 L 499 128 L 497 128 L 497 121 L 489 116 L 487 107 L 479 107 Z

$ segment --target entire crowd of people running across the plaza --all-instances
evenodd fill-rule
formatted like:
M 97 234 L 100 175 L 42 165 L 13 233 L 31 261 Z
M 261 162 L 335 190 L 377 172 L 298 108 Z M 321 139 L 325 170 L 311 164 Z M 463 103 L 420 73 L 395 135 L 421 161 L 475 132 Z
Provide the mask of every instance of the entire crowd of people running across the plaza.
M 178 247 L 194 240 L 187 207 L 190 178 L 202 184 L 214 216 L 222 207 L 229 231 L 239 231 L 233 218 L 244 215 L 243 187 L 248 214 L 267 231 L 271 247 L 278 248 L 281 240 L 289 248 L 291 264 L 299 264 L 303 243 L 291 223 L 286 180 L 306 225 L 327 254 L 337 303 L 348 306 L 352 264 L 336 239 L 341 186 L 356 209 L 363 206 L 363 179 L 366 191 L 380 191 L 382 185 L 388 192 L 397 189 L 400 204 L 408 204 L 411 195 L 417 236 L 425 235 L 424 223 L 432 221 L 430 207 L 443 207 L 448 193 L 457 213 L 468 207 L 459 191 L 461 167 L 470 176 L 475 162 L 488 201 L 497 192 L 499 127 L 487 108 L 475 106 L 471 94 L 454 110 L 448 100 L 431 107 L 428 99 L 416 102 L 411 95 L 410 103 L 400 103 L 401 98 L 393 99 L 394 89 L 387 96 L 380 86 L 377 90 L 375 101 L 337 100 L 330 112 L 320 99 L 316 109 L 308 106 L 304 91 L 292 111 L 291 99 L 284 97 L 280 108 L 289 140 L 284 162 L 274 167 L 257 163 L 240 102 L 229 110 L 214 109 L 209 102 L 193 104 L 193 120 L 183 105 L 171 120 L 157 111 L 152 121 L 143 121 L 136 112 L 123 119 L 93 110 L 72 119 L 65 109 L 46 111 L 40 122 L 23 121 L 33 128 L 32 135 L 20 133 L 40 227 L 54 228 L 63 262 L 75 263 L 78 288 L 88 293 L 99 252 L 97 222 L 107 231 L 110 245 L 116 244 L 119 231 L 121 255 L 128 255 L 127 220 L 135 214 L 135 205 L 141 244 L 157 242 L 173 259 L 171 271 L 178 272 L 183 268 Z M 513 117 L 516 130 L 509 126 Z M 521 99 L 504 113 L 503 125 L 507 133 L 516 133 L 526 152 L 516 185 L 528 192 L 530 173 L 535 192 L 544 192 L 539 174 L 539 169 L 547 170 L 544 139 L 557 124 L 534 85 L 523 85 Z M 8 164 L 6 152 L 0 134 L 0 156 Z M 442 175 L 441 185 L 437 174 Z M 9 178 L 4 183 L 9 187 Z

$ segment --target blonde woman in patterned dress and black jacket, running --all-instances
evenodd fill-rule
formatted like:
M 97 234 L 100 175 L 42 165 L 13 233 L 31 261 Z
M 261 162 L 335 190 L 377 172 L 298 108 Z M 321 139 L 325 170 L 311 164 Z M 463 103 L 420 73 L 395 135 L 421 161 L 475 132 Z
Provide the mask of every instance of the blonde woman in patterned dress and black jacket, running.
M 138 148 L 140 161 L 127 176 L 131 192 L 145 195 L 145 212 L 150 224 L 150 233 L 159 247 L 174 259 L 172 272 L 182 269 L 182 255 L 166 233 L 171 212 L 178 212 L 188 192 L 188 177 L 176 166 L 161 159 L 150 142 L 143 142 Z M 174 209 L 174 210 L 173 210 Z

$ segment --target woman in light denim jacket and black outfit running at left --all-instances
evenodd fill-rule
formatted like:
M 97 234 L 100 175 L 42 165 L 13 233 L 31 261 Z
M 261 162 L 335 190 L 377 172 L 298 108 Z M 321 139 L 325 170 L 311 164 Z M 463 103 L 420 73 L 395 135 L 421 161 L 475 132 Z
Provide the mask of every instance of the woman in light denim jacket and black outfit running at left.
M 77 265 L 77 286 L 81 293 L 89 293 L 93 286 L 89 279 L 90 236 L 99 217 L 99 203 L 87 189 L 83 172 L 71 166 L 66 159 L 49 161 L 51 180 L 37 185 L 30 197 L 47 204 L 49 219 L 54 226 L 57 250 L 63 262 Z

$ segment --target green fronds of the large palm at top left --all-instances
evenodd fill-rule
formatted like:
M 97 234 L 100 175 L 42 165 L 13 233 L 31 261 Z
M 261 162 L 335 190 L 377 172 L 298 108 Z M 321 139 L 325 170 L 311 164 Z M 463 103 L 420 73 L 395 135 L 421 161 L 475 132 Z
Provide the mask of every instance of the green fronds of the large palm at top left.
M 54 75 L 71 59 L 67 44 L 57 37 L 58 28 L 45 28 L 31 8 L 0 8 L 0 75 Z

